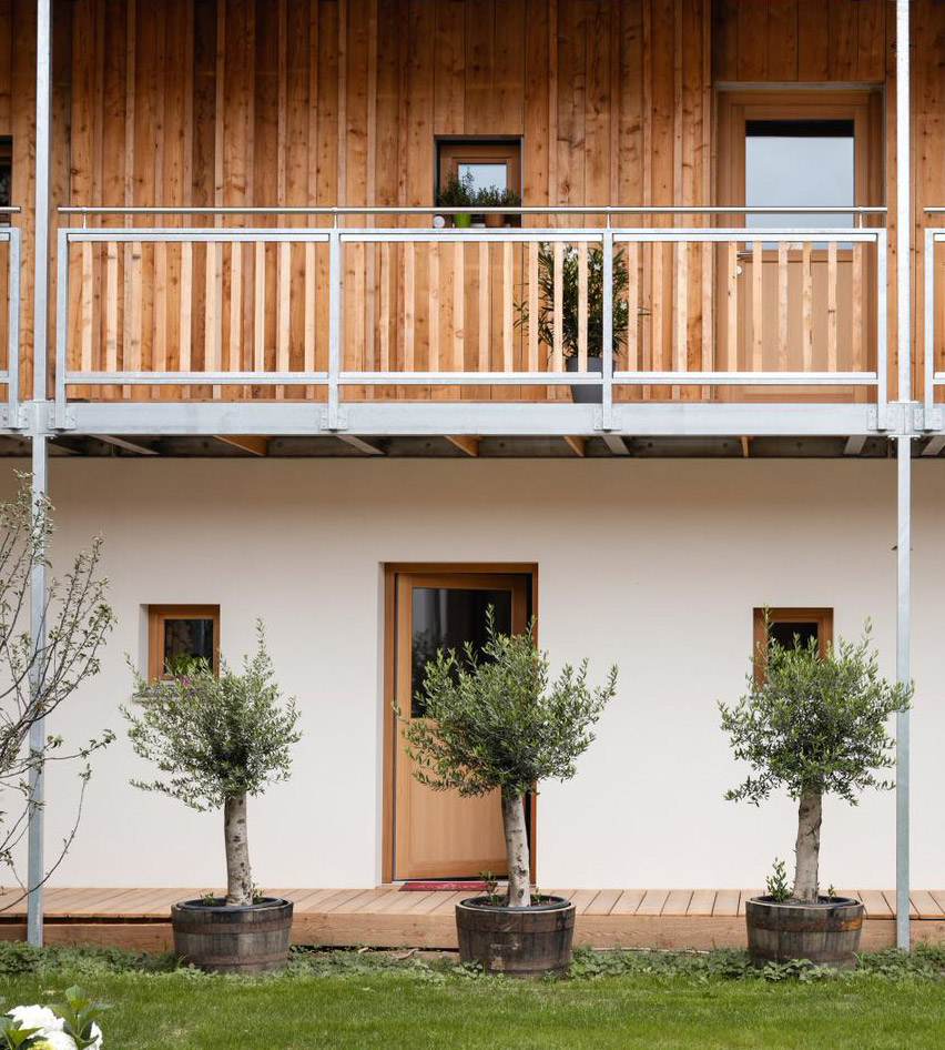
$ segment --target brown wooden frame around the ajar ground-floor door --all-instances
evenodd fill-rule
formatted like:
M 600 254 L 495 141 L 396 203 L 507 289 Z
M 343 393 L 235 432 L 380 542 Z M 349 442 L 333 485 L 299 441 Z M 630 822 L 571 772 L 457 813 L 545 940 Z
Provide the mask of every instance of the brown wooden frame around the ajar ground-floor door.
M 393 562 L 384 565 L 384 678 L 382 689 L 382 832 L 380 832 L 380 878 L 384 882 L 394 879 L 394 809 L 396 770 L 394 768 L 394 748 L 399 733 L 397 716 L 394 711 L 396 691 L 395 657 L 397 645 L 397 576 L 403 573 L 443 576 L 527 576 L 530 579 L 531 613 L 535 617 L 535 640 L 538 642 L 538 565 L 535 562 Z M 529 826 L 531 880 L 536 871 L 536 796 L 529 800 Z

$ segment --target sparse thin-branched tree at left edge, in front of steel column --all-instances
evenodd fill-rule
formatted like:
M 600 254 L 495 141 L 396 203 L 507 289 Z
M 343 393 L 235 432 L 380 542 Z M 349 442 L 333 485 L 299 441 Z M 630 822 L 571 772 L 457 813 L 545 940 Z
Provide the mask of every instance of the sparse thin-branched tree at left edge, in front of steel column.
M 18 477 L 16 496 L 0 502 L 0 796 L 4 800 L 0 867 L 12 872 L 24 895 L 42 885 L 65 856 L 78 830 L 91 755 L 113 738 L 108 729 L 75 741 L 48 733 L 42 747 L 34 748 L 30 730 L 71 701 L 82 683 L 99 673 L 99 652 L 114 625 L 114 614 L 105 602 L 108 579 L 99 573 L 101 539 L 96 538 L 74 556 L 61 580 L 50 580 L 40 594 L 45 637 L 40 644 L 31 636 L 31 582 L 37 566 L 50 565 L 52 506 L 45 497 L 33 499 L 29 475 Z M 41 805 L 31 779 L 47 763 L 70 760 L 79 763 L 74 817 L 49 869 L 34 872 L 34 885 L 27 886 L 14 857 L 30 816 Z M 21 899 L 11 899 L 6 907 Z

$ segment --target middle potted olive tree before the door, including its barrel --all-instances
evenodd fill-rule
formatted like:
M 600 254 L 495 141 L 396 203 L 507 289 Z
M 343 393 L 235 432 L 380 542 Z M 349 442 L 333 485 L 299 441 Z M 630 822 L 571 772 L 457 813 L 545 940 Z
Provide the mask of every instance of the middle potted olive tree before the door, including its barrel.
M 587 660 L 550 682 L 534 632 L 532 623 L 522 635 L 497 633 L 489 608 L 481 653 L 471 645 L 461 656 L 438 650 L 426 665 L 426 718 L 403 728 L 421 784 L 464 797 L 499 794 L 508 890 L 460 901 L 456 925 L 464 962 L 515 977 L 567 969 L 575 923 L 569 900 L 531 892 L 526 797 L 542 780 L 575 776 L 617 684 L 612 667 L 606 684 L 591 689 Z

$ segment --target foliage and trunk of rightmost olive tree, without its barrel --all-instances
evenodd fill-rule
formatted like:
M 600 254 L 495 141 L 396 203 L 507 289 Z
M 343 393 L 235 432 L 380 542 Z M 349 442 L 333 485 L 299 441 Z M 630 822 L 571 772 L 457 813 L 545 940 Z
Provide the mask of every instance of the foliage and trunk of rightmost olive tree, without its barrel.
M 840 639 L 823 656 L 816 638 L 772 638 L 753 665 L 748 694 L 719 704 L 735 757 L 753 770 L 725 798 L 758 805 L 783 787 L 796 800 L 793 899 L 816 902 L 823 797 L 855 806 L 865 788 L 894 786 L 877 771 L 895 764 L 886 726 L 908 707 L 912 687 L 881 677 L 868 622 L 858 642 Z

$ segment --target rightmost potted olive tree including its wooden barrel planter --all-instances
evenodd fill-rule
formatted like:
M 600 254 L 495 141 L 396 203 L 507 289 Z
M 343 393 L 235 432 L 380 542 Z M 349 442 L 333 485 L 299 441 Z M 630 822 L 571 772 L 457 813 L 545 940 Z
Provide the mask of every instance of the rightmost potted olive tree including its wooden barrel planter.
M 770 879 L 769 893 L 745 907 L 752 961 L 855 966 L 863 905 L 820 891 L 823 797 L 855 806 L 864 788 L 893 787 L 877 776 L 895 761 L 886 725 L 908 707 L 912 688 L 880 676 L 868 623 L 860 642 L 841 639 L 824 655 L 816 638 L 793 646 L 770 639 L 748 686 L 733 707 L 719 704 L 735 757 L 752 770 L 725 797 L 758 805 L 782 787 L 797 802 L 793 889 L 779 891 Z

